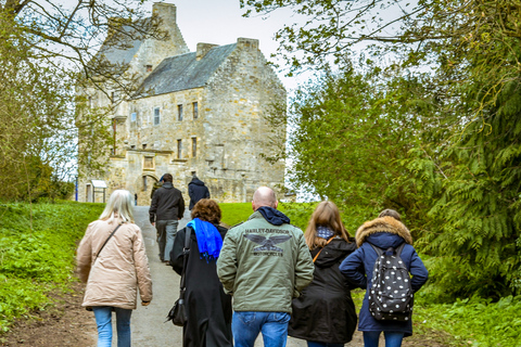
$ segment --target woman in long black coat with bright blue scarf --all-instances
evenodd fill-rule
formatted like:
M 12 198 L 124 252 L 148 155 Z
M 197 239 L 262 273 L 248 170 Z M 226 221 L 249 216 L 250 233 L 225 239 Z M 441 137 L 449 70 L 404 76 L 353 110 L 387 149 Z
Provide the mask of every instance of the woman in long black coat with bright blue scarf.
M 185 347 L 233 346 L 231 296 L 223 291 L 216 271 L 216 260 L 228 231 L 219 226 L 220 215 L 215 201 L 200 200 L 192 208 L 192 220 L 178 231 L 170 252 L 170 265 L 181 274 L 182 249 L 190 229 L 190 254 L 185 271 L 188 310 L 188 322 L 182 331 Z

